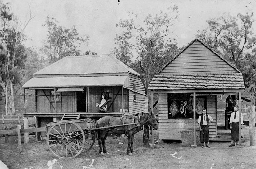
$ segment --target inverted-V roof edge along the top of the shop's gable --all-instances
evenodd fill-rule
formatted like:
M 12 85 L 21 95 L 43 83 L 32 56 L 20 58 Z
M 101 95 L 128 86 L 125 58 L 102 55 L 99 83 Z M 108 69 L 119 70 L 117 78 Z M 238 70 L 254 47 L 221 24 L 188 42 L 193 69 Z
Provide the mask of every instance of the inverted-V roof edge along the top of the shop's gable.
M 179 53 L 177 53 L 169 62 L 167 62 L 156 74 L 159 74 L 164 68 L 166 68 L 170 63 L 172 63 L 173 60 L 175 60 L 181 53 L 183 53 L 189 46 L 191 46 L 194 42 L 200 42 L 202 45 L 204 45 L 207 49 L 209 49 L 212 53 L 214 53 L 216 56 L 218 56 L 221 60 L 226 62 L 229 66 L 234 68 L 237 72 L 241 73 L 236 67 L 234 67 L 232 64 L 230 64 L 226 59 L 224 59 L 222 56 L 220 56 L 217 52 L 215 52 L 212 48 L 210 48 L 208 45 L 206 45 L 204 42 L 202 42 L 199 39 L 192 40 L 186 47 L 184 47 Z

